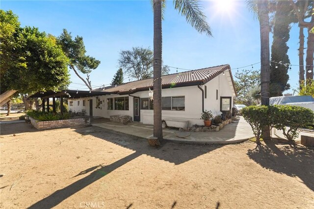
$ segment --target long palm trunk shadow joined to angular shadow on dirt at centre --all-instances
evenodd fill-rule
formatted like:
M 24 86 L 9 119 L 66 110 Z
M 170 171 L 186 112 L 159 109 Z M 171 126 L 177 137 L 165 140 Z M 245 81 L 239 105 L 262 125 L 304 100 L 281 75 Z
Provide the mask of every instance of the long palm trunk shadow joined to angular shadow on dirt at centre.
M 67 199 L 71 195 L 75 194 L 84 187 L 94 183 L 95 181 L 105 178 L 105 176 L 114 171 L 115 169 L 123 166 L 131 160 L 141 155 L 149 155 L 161 160 L 169 161 L 175 164 L 184 163 L 190 159 L 201 156 L 205 153 L 213 151 L 222 145 L 192 145 L 192 144 L 174 144 L 167 142 L 159 148 L 150 147 L 147 139 L 139 138 L 136 136 L 127 135 L 120 132 L 105 130 L 98 127 L 86 127 L 76 129 L 80 134 L 90 134 L 101 140 L 114 143 L 124 148 L 135 151 L 129 156 L 123 157 L 109 165 L 95 165 L 91 168 L 87 168 L 81 171 L 76 176 L 88 174 L 84 178 L 74 182 L 63 189 L 57 190 L 48 197 L 38 201 L 34 205 L 30 206 L 30 209 L 52 208 L 57 206 L 63 200 Z M 175 204 L 174 204 L 175 205 Z M 174 206 L 173 206 L 174 207 Z

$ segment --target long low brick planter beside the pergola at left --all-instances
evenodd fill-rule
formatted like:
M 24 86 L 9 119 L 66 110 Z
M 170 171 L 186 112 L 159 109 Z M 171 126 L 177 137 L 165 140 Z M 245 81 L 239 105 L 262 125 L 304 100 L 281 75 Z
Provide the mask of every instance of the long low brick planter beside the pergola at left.
M 90 125 L 90 118 L 74 118 L 58 121 L 38 121 L 29 117 L 29 120 L 30 123 L 38 130 Z

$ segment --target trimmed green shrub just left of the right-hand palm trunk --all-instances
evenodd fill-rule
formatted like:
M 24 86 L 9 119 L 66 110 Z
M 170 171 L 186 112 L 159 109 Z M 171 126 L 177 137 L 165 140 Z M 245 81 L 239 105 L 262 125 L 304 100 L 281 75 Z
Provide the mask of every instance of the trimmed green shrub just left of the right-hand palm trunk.
M 252 127 L 253 133 L 256 137 L 256 143 L 258 144 L 260 143 L 262 128 L 271 124 L 268 112 L 268 107 L 265 105 L 247 106 L 242 108 L 243 118 Z

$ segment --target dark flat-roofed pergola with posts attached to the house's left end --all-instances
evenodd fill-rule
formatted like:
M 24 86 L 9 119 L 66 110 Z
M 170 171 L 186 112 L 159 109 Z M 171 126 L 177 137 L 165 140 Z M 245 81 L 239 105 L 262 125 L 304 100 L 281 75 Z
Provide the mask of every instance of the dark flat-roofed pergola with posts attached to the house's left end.
M 60 98 L 60 110 L 63 109 L 63 98 L 84 98 L 84 97 L 96 97 L 102 95 L 112 94 L 112 92 L 105 91 L 79 91 L 79 90 L 59 90 L 55 91 L 46 91 L 46 92 L 37 92 L 29 98 L 40 98 L 42 100 L 43 112 L 45 112 L 45 103 L 47 102 L 47 112 L 49 112 L 49 99 L 52 98 L 52 111 L 55 112 L 55 98 Z M 62 114 L 62 111 L 61 111 Z

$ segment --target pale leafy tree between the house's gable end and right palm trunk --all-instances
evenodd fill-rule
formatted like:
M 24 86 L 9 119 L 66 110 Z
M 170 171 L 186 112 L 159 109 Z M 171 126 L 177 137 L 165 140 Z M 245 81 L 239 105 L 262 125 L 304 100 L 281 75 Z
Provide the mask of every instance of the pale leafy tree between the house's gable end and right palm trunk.
M 236 101 L 241 104 L 251 104 L 250 91 L 261 82 L 261 74 L 258 70 L 243 70 L 235 73 Z

